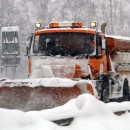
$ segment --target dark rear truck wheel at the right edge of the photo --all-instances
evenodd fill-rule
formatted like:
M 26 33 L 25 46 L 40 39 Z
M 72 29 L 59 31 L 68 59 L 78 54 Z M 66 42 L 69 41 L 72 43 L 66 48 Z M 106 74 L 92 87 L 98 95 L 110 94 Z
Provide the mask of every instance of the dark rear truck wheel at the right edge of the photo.
M 123 83 L 123 99 L 125 101 L 130 100 L 129 85 L 128 85 L 128 79 L 127 78 L 124 79 L 124 83 Z

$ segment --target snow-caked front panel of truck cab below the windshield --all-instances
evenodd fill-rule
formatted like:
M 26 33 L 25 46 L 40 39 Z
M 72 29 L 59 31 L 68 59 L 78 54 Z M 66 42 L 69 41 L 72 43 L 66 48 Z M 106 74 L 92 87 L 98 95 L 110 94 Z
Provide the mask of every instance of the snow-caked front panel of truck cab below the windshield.
M 84 75 L 89 74 L 87 59 L 63 58 L 63 57 L 33 57 L 31 78 L 69 78 L 72 79 L 76 72 L 76 66 Z

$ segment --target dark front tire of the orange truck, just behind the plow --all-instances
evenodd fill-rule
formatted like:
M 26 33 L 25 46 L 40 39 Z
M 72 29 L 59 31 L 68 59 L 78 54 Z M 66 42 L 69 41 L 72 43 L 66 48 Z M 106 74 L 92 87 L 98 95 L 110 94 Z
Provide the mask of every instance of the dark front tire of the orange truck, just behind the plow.
M 109 102 L 109 79 L 107 76 L 103 78 L 101 100 L 105 103 Z

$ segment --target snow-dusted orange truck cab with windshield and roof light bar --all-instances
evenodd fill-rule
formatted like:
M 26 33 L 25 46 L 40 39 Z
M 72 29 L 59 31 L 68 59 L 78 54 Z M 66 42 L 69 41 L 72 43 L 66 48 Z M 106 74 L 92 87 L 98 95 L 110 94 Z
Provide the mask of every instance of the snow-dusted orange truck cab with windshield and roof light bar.
M 105 45 L 102 44 L 105 44 L 105 40 L 95 28 L 84 27 L 82 23 L 50 23 L 48 27 L 36 30 L 29 44 L 29 76 L 32 76 L 34 71 L 37 73 L 36 66 L 38 68 L 39 64 L 43 68 L 45 65 L 50 67 L 54 77 L 87 79 L 91 76 L 94 79 L 96 77 L 94 73 L 90 73 L 91 69 L 99 72 L 101 66 L 99 60 L 96 60 L 97 57 L 101 59 L 101 63 L 105 62 Z M 37 62 L 34 62 L 34 59 Z M 64 69 L 68 74 L 63 74 Z

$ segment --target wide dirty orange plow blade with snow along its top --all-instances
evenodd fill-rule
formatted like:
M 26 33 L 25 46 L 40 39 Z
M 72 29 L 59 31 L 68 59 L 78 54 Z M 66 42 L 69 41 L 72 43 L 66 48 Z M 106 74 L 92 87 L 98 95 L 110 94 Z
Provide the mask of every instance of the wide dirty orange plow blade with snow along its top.
M 31 111 L 60 106 L 81 94 L 76 83 L 58 78 L 0 81 L 0 108 Z

